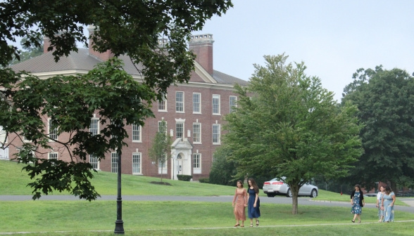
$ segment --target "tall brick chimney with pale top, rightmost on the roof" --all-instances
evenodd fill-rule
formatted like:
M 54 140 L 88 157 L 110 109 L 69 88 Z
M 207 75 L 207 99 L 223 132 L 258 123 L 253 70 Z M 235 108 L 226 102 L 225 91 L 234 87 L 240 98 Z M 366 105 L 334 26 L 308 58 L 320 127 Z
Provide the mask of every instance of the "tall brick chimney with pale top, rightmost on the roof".
M 213 74 L 213 34 L 192 35 L 189 50 L 196 54 L 196 61 L 209 74 Z

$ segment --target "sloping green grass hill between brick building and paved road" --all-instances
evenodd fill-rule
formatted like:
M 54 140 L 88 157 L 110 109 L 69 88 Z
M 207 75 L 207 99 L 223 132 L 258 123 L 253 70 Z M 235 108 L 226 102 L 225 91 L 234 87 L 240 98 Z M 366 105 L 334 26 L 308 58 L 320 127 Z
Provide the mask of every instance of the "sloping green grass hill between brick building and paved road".
M 25 171 L 23 164 L 0 161 L 0 195 L 31 195 L 32 190 L 26 187 L 32 182 Z M 151 184 L 151 181 L 160 181 L 160 178 L 146 176 L 122 175 L 123 195 L 175 195 L 175 196 L 215 196 L 233 195 L 234 187 L 172 181 L 163 179 L 171 186 Z M 94 173 L 92 184 L 100 195 L 116 195 L 117 174 L 99 171 Z M 68 192 L 54 192 L 54 195 L 68 195 Z

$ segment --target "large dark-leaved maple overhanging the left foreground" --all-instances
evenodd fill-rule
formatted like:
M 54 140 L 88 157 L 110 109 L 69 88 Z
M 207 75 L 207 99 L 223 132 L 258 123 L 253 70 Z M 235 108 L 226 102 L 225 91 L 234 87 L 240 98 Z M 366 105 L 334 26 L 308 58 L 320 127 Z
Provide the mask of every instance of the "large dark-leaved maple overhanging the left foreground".
M 191 32 L 203 27 L 213 15 L 221 15 L 232 6 L 230 0 L 45 0 L 0 3 L 0 65 L 6 67 L 13 57 L 20 60 L 20 51 L 8 41 L 25 37 L 25 47 L 37 48 L 43 36 L 51 41 L 55 60 L 77 51 L 76 41 L 87 45 L 84 25 L 94 25 L 95 51 L 110 50 L 115 59 L 96 67 L 86 75 L 56 76 L 40 80 L 30 74 L 0 69 L 0 124 L 6 138 L 14 133 L 28 138 L 23 143 L 18 161 L 33 162 L 23 169 L 35 182 L 34 199 L 41 192 L 68 190 L 84 199 L 96 199 L 99 194 L 89 182 L 92 165 L 87 155 L 98 160 L 109 150 L 122 150 L 127 137 L 125 124 L 144 125 L 146 117 L 153 117 L 151 103 L 161 100 L 170 84 L 189 81 L 194 69 L 195 55 L 187 51 Z M 167 39 L 158 44 L 158 38 Z M 118 55 L 128 55 L 132 62 L 143 66 L 143 81 L 137 83 L 125 73 Z M 22 77 L 25 76 L 24 79 Z M 65 99 L 62 99 L 65 98 Z M 94 112 L 99 112 L 101 133 L 92 135 L 86 130 Z M 46 124 L 57 133 L 70 133 L 62 142 L 70 152 L 71 162 L 44 159 L 43 149 L 51 149 Z M 5 147 L 4 140 L 0 145 Z M 8 142 L 6 145 L 11 145 Z M 72 182 L 75 182 L 72 185 Z

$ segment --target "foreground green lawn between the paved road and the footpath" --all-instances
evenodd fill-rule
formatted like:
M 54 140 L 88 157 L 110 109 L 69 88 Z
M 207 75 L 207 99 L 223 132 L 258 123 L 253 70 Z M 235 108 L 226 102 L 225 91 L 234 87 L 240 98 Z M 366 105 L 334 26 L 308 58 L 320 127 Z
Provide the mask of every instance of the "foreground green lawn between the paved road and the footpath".
M 116 203 L 115 201 L 0 202 L 0 212 L 0 232 L 113 230 Z M 288 204 L 262 204 L 260 223 L 262 227 L 326 223 L 349 223 L 349 226 L 354 226 L 356 224 L 351 224 L 350 221 L 352 217 L 349 207 L 299 206 L 299 214 L 293 216 L 291 206 Z M 373 223 L 377 221 L 377 209 L 363 209 L 361 217 L 363 223 Z M 414 214 L 396 211 L 396 220 L 414 220 Z M 137 234 L 146 232 L 147 235 L 152 235 L 154 232 L 159 232 L 161 235 L 162 230 L 172 230 L 180 235 L 180 232 L 190 233 L 192 231 L 184 230 L 185 228 L 231 227 L 234 225 L 234 216 L 231 202 L 123 202 L 123 221 L 125 230 L 134 230 Z M 372 225 L 379 226 L 380 224 Z M 413 225 L 413 222 L 410 225 Z M 246 226 L 249 226 L 249 222 L 246 222 Z M 301 229 L 303 227 L 301 226 Z M 290 228 L 290 230 L 295 230 L 294 227 Z M 365 228 L 365 226 L 360 228 Z M 155 231 L 147 231 L 150 229 Z M 285 230 L 285 228 L 278 229 Z M 313 229 L 320 230 L 319 227 Z M 265 235 L 266 232 L 277 231 L 276 228 L 260 230 L 264 230 Z M 212 232 L 221 234 L 220 230 Z M 234 233 L 227 229 L 223 229 L 222 232 Z M 210 234 L 209 230 L 195 230 L 194 233 L 196 235 Z

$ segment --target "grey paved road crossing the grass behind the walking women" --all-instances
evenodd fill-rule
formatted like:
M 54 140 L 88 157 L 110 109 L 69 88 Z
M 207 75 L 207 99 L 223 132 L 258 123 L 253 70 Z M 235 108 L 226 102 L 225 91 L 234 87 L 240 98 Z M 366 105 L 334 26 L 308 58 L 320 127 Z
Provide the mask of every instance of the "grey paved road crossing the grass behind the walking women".
M 0 195 L 0 201 L 27 201 L 31 200 L 32 196 L 29 195 Z M 124 195 L 123 201 L 180 201 L 180 202 L 232 202 L 232 196 L 220 196 L 220 197 L 188 197 L 188 196 L 131 196 Z M 58 201 L 80 201 L 79 198 L 72 195 L 46 195 L 40 198 L 41 201 L 58 200 Z M 98 200 L 116 200 L 115 195 L 103 195 Z M 408 199 L 407 204 L 414 203 L 413 199 Z M 84 200 L 82 200 L 84 201 Z M 261 203 L 272 204 L 291 204 L 291 198 L 289 197 L 261 197 Z M 309 197 L 299 197 L 299 205 L 313 205 L 313 206 L 349 206 L 349 202 L 327 202 L 311 201 Z M 365 204 L 365 207 L 375 208 L 375 204 Z M 407 211 L 414 214 L 413 206 L 394 206 L 394 209 L 398 211 Z

